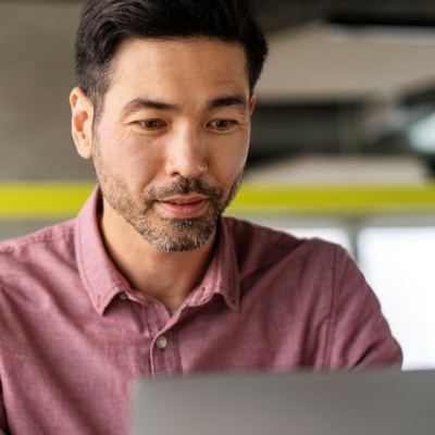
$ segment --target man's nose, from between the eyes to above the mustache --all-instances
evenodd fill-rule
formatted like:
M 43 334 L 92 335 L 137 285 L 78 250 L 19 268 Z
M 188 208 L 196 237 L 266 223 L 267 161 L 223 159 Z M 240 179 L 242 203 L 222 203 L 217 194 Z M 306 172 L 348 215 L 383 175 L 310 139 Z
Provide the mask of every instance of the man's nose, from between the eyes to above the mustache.
M 167 144 L 166 174 L 197 178 L 207 172 L 207 144 L 195 128 L 183 127 L 174 132 Z

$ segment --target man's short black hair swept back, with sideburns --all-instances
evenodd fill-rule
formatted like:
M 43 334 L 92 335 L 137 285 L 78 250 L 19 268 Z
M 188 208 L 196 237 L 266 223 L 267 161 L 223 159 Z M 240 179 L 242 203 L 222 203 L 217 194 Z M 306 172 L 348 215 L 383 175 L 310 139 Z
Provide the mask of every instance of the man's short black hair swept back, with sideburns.
M 108 90 L 116 50 L 132 37 L 209 37 L 240 44 L 251 91 L 268 55 L 250 0 L 88 0 L 75 41 L 75 71 L 96 109 Z

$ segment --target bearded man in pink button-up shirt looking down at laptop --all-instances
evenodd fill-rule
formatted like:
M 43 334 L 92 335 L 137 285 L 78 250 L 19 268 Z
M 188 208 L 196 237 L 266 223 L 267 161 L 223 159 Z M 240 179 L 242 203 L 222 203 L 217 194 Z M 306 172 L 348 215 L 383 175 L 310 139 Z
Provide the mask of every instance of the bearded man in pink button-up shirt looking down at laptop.
M 98 187 L 0 245 L 2 433 L 124 434 L 144 375 L 400 363 L 341 248 L 221 217 L 268 51 L 248 0 L 89 0 L 75 47 Z

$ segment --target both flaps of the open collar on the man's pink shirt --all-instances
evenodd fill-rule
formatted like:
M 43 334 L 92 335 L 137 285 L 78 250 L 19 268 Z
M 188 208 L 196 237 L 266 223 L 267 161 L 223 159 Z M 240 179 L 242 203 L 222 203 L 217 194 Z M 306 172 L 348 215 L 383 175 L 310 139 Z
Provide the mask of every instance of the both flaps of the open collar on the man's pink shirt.
M 98 212 L 101 192 L 97 186 L 76 220 L 75 248 L 77 268 L 82 282 L 95 309 L 100 315 L 117 294 L 132 291 L 128 282 L 116 270 L 101 239 Z M 239 278 L 231 231 L 221 219 L 217 228 L 217 245 L 202 283 L 189 295 L 185 306 L 207 303 L 215 294 L 223 296 L 229 308 L 239 308 Z M 144 298 L 141 298 L 144 301 Z M 151 298 L 150 298 L 151 300 Z

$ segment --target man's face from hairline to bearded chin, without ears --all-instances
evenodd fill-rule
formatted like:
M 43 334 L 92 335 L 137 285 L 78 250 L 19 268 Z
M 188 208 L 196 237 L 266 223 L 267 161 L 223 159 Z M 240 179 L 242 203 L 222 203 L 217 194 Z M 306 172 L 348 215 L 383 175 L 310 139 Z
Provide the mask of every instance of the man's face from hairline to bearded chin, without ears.
M 92 125 L 104 214 L 165 251 L 202 246 L 237 191 L 253 103 L 238 45 L 124 42 Z

